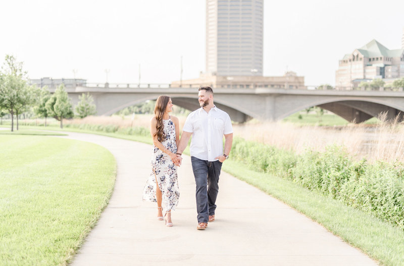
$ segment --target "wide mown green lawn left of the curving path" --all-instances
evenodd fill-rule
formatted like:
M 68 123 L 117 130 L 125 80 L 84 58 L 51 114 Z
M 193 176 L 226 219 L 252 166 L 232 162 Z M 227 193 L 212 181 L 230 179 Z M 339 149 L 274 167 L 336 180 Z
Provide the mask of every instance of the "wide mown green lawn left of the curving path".
M 0 265 L 65 265 L 111 196 L 116 162 L 103 147 L 0 135 Z

